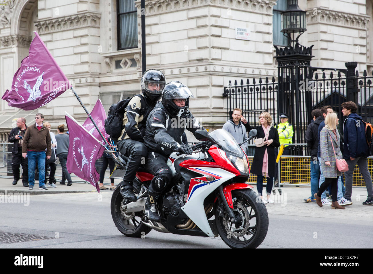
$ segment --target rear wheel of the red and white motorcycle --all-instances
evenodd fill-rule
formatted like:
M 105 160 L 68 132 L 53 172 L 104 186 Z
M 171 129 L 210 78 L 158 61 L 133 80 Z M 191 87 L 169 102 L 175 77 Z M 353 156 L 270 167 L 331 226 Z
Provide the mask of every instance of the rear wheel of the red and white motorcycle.
M 129 220 L 126 220 L 121 213 L 123 197 L 119 190 L 120 187 L 114 189 L 110 202 L 110 210 L 115 226 L 128 237 L 144 237 L 150 232 L 151 228 L 141 222 L 141 218 L 144 216 L 142 210 L 135 212 L 135 216 L 132 218 L 128 217 Z M 137 191 L 134 189 L 134 192 L 136 193 Z

